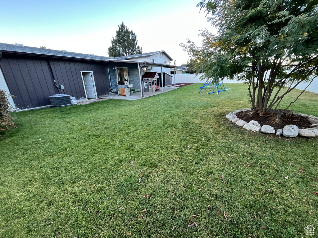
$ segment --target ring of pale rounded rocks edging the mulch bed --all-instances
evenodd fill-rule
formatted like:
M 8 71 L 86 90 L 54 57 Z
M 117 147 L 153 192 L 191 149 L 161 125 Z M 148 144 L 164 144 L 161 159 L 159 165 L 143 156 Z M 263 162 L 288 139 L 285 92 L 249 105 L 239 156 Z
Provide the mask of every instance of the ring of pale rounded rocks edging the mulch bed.
M 247 112 L 251 109 L 244 109 L 244 110 L 236 110 L 235 112 L 230 112 L 226 115 L 226 119 L 230 122 L 235 123 L 236 125 L 243 127 L 246 130 L 250 131 L 257 131 L 266 134 L 276 134 L 276 136 L 283 135 L 285 137 L 306 137 L 306 138 L 313 138 L 318 137 L 318 117 L 308 114 L 301 114 L 301 113 L 294 113 L 294 115 L 301 115 L 308 119 L 311 126 L 307 129 L 299 129 L 296 125 L 286 125 L 283 129 L 274 130 L 272 126 L 263 125 L 262 127 L 257 121 L 250 121 L 249 123 L 245 122 L 244 120 L 239 119 L 236 114 L 239 112 Z

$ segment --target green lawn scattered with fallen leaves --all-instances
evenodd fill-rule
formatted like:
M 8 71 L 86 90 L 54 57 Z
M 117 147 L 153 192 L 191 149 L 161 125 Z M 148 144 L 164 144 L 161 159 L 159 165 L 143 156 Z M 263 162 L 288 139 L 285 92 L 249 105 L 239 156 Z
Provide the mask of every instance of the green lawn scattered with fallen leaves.
M 305 236 L 317 138 L 237 127 L 225 115 L 250 107 L 247 86 L 228 87 L 15 113 L 0 137 L 0 237 Z M 317 108 L 306 92 L 290 109 Z

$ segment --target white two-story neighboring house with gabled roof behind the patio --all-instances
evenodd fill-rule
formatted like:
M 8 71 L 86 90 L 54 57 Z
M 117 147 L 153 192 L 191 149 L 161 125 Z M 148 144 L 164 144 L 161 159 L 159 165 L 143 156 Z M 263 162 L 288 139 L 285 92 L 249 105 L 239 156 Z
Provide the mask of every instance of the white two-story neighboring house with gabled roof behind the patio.
M 137 61 L 161 63 L 161 64 L 168 64 L 168 65 L 170 65 L 170 61 L 173 60 L 164 50 L 149 52 L 149 53 L 142 53 L 137 55 L 123 56 L 122 58 L 126 60 L 137 60 Z M 116 59 L 121 59 L 121 57 L 116 57 Z M 158 72 L 159 74 L 161 73 L 160 67 L 148 66 L 148 67 L 143 67 L 142 70 L 143 70 L 143 74 L 145 72 Z M 162 72 L 170 74 L 170 69 L 163 68 Z

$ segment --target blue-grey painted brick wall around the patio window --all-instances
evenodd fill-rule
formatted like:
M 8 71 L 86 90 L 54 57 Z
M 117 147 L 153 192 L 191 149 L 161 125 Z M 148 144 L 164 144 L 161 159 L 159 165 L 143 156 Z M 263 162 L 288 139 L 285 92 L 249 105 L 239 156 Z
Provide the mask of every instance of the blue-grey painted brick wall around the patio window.
M 112 84 L 113 90 L 117 91 L 117 79 L 115 69 L 113 67 L 125 67 L 128 68 L 128 78 L 129 83 L 133 85 L 133 89 L 140 89 L 140 79 L 139 79 L 139 71 L 138 65 L 135 63 L 118 63 L 118 62 L 110 62 L 109 63 L 109 74 L 110 74 L 110 82 Z

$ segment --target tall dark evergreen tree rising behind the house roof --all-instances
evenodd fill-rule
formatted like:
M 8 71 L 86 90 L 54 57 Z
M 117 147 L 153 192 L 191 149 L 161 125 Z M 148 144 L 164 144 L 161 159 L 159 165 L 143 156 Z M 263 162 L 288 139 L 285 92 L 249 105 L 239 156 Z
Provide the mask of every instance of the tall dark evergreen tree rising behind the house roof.
M 116 30 L 116 37 L 112 40 L 112 46 L 108 47 L 108 56 L 120 56 L 120 48 L 122 55 L 135 55 L 142 53 L 142 47 L 137 46 L 137 37 L 135 32 L 129 30 L 124 23 L 121 23 Z

